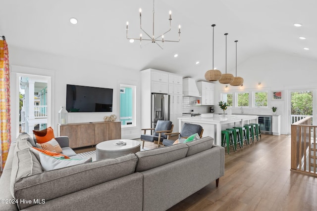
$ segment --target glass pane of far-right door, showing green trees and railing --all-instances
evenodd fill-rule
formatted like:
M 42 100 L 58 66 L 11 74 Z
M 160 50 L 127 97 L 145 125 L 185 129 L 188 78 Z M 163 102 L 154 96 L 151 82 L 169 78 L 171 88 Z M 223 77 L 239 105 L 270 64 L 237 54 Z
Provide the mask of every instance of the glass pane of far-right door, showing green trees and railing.
M 291 123 L 293 124 L 308 116 L 313 117 L 313 92 L 291 92 Z

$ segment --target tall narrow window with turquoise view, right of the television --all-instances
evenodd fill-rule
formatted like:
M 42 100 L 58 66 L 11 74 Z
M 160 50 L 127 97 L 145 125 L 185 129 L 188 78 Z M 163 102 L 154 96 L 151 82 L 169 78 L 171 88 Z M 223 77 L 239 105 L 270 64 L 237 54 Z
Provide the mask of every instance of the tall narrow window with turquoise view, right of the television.
M 134 127 L 136 113 L 136 86 L 120 84 L 121 127 Z

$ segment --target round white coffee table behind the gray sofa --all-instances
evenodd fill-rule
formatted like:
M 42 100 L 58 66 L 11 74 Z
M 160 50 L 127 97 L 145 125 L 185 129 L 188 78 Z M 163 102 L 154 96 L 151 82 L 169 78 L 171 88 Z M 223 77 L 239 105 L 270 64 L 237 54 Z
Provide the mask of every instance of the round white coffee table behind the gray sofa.
M 123 141 L 126 145 L 117 145 L 118 141 Z M 114 139 L 100 142 L 96 145 L 96 160 L 114 158 L 129 153 L 140 151 L 140 142 L 130 139 Z

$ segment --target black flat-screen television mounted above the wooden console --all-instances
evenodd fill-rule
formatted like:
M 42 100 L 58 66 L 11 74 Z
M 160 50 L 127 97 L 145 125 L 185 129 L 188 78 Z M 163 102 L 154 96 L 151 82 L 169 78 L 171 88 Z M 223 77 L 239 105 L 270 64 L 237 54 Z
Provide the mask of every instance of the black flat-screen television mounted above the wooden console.
M 112 112 L 112 88 L 67 84 L 68 112 Z

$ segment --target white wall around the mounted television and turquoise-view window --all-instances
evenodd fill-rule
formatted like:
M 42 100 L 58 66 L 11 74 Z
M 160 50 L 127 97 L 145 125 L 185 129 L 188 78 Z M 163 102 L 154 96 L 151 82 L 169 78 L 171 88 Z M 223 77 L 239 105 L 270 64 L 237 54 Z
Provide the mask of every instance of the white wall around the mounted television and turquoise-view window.
M 9 46 L 9 59 L 11 66 L 28 67 L 28 69 L 42 70 L 43 75 L 46 72 L 54 75 L 53 78 L 53 119 L 52 127 L 57 135 L 58 110 L 60 106 L 66 104 L 66 84 L 77 84 L 87 86 L 97 86 L 113 88 L 113 111 L 97 112 L 97 113 L 71 113 L 68 115 L 68 123 L 83 122 L 101 122 L 104 116 L 115 114 L 119 120 L 119 84 L 131 84 L 137 86 L 137 126 L 132 128 L 123 128 L 121 132 L 122 138 L 138 138 L 141 134 L 140 127 L 140 74 L 139 70 L 130 70 L 116 66 L 107 65 L 105 63 L 95 62 L 90 58 L 87 52 L 86 59 L 76 59 L 71 57 L 62 57 L 58 55 L 26 50 L 15 46 Z M 123 59 L 124 60 L 124 59 Z M 39 73 L 42 74 L 42 73 Z M 14 73 L 11 73 L 11 127 L 12 140 L 17 136 L 17 113 L 16 100 L 17 85 Z

